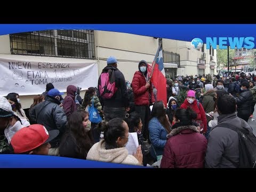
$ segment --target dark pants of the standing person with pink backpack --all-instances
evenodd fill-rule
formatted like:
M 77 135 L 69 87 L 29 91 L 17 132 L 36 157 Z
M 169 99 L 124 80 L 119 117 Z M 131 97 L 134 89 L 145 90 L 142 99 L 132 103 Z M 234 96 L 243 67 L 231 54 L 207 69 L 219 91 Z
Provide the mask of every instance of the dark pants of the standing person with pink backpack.
M 124 107 L 103 107 L 105 121 L 109 121 L 113 118 L 125 119 L 125 108 Z

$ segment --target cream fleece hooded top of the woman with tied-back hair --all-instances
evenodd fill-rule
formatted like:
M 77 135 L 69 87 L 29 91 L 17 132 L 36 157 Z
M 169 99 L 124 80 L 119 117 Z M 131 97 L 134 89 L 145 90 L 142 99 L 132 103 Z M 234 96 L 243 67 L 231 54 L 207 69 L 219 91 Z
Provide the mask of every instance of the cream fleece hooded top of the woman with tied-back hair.
M 91 161 L 139 165 L 137 158 L 129 155 L 125 147 L 106 149 L 104 139 L 92 146 L 86 159 Z

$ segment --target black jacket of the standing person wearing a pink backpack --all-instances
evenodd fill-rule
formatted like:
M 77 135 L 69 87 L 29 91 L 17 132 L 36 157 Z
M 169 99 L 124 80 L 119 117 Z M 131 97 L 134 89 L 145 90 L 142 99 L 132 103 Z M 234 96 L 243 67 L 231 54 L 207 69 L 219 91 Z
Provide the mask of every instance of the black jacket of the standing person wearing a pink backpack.
M 112 98 L 110 99 L 101 98 L 100 100 L 103 101 L 103 105 L 106 107 L 116 107 L 116 108 L 130 107 L 127 87 L 126 87 L 123 73 L 114 66 L 106 66 L 102 70 L 102 73 L 107 73 L 108 69 L 112 69 L 115 71 L 115 83 L 116 83 L 117 91 L 115 92 Z M 98 89 L 99 89 L 100 82 L 101 81 L 99 77 Z

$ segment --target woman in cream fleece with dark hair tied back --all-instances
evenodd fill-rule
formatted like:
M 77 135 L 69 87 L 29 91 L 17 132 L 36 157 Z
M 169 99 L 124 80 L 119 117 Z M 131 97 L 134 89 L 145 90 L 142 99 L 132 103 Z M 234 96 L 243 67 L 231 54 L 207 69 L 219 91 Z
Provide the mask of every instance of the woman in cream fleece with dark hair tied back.
M 137 148 L 134 156 L 129 155 L 125 148 L 129 139 L 129 127 L 125 121 L 114 118 L 109 122 L 99 123 L 98 129 L 104 131 L 104 139 L 92 146 L 87 154 L 87 160 L 142 165 L 141 146 Z

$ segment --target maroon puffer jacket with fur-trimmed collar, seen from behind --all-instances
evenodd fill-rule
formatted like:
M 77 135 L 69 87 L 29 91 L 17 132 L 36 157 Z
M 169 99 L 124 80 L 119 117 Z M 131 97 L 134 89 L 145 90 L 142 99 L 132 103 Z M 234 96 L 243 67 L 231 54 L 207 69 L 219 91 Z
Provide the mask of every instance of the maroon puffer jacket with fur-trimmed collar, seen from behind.
M 204 135 L 193 125 L 173 127 L 164 147 L 161 168 L 203 168 L 207 147 Z

